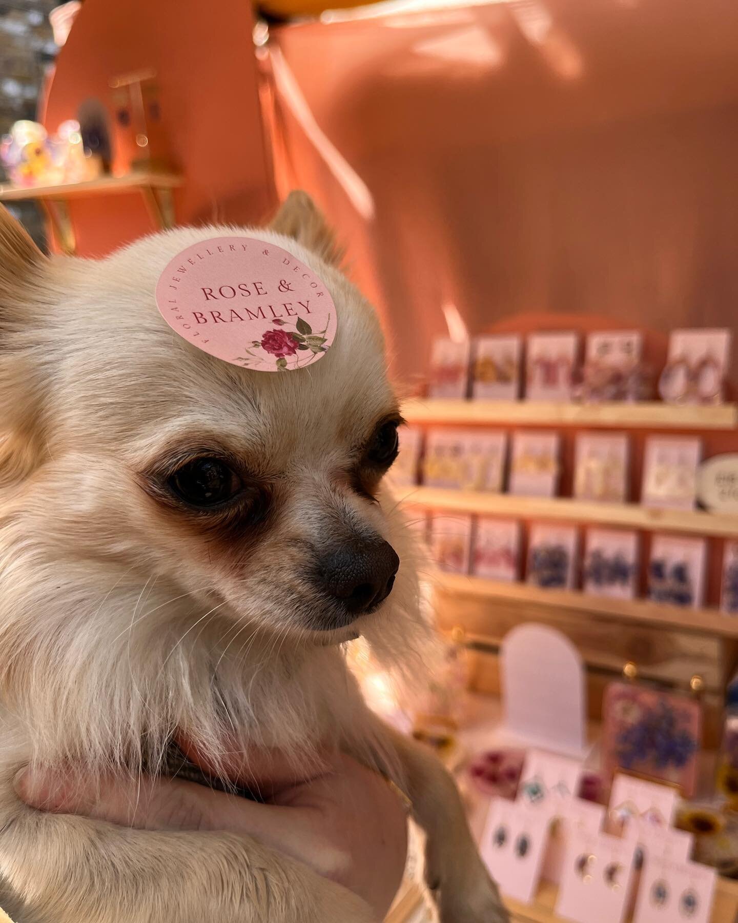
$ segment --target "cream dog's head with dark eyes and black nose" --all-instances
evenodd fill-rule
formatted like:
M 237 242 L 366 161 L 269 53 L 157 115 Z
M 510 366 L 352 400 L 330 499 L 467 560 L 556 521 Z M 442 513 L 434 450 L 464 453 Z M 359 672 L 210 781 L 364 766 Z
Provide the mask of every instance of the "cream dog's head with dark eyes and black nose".
M 165 653 L 185 637 L 192 653 L 211 624 L 320 648 L 388 624 L 414 593 L 407 538 L 382 497 L 400 417 L 375 312 L 334 265 L 304 195 L 251 233 L 292 252 L 333 298 L 335 342 L 309 367 L 233 366 L 161 318 L 168 262 L 232 229 L 47 260 L 2 220 L 6 659 L 38 653 L 34 618 L 47 639 L 65 631 L 67 648 L 76 626 L 79 658 L 83 644 L 114 648 L 122 635 L 139 660 L 147 643 Z

